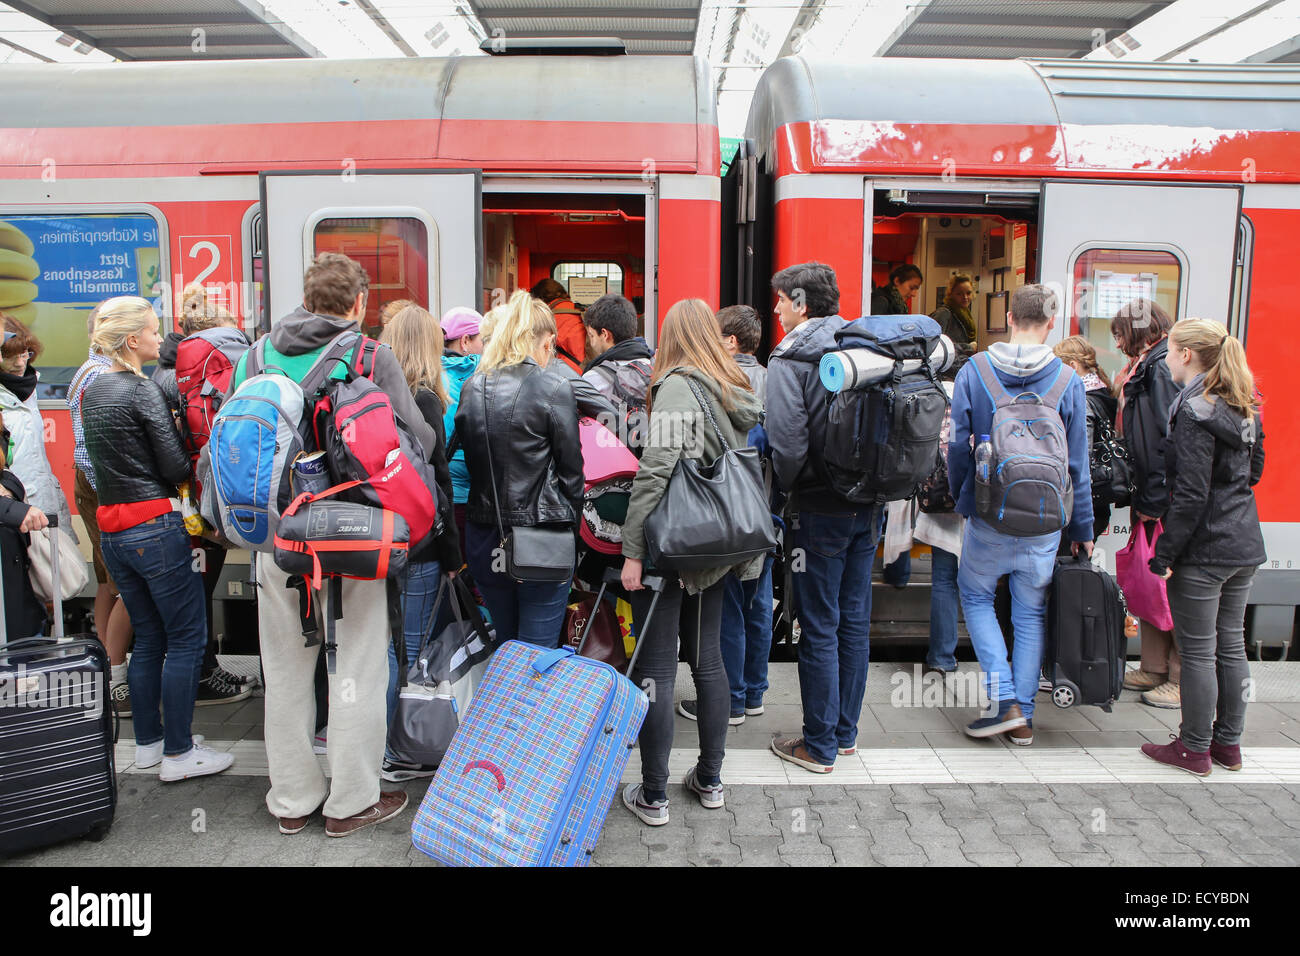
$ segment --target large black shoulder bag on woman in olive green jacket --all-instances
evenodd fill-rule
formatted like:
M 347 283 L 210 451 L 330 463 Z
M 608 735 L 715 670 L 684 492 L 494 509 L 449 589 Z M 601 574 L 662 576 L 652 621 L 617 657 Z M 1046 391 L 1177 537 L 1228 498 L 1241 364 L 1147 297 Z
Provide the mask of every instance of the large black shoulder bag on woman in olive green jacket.
M 712 401 L 689 376 L 686 384 L 723 453 L 711 464 L 685 457 L 677 460 L 668 489 L 646 518 L 650 566 L 662 571 L 732 567 L 776 548 L 758 449 L 728 445 Z

